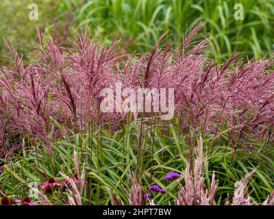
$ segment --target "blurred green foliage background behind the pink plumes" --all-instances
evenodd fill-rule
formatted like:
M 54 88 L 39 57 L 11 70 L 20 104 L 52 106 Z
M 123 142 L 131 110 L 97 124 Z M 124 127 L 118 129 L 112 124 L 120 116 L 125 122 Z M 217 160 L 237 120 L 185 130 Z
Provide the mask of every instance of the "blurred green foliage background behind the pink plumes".
M 38 5 L 38 21 L 29 20 L 29 4 Z M 234 19 L 234 5 L 242 3 L 244 19 Z M 36 27 L 53 38 L 71 38 L 89 27 L 104 44 L 121 38 L 119 49 L 149 51 L 165 31 L 178 47 L 186 26 L 201 21 L 214 47 L 208 56 L 224 62 L 233 53 L 258 59 L 274 51 L 274 0 L 1 0 L 0 65 L 9 64 L 3 38 L 29 60 L 37 42 Z

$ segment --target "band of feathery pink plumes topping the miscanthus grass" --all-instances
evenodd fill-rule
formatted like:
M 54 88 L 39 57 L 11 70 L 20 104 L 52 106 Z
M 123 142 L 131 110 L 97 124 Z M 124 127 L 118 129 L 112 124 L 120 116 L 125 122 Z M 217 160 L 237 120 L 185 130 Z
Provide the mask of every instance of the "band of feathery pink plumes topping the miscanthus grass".
M 162 36 L 143 55 L 115 53 L 118 42 L 105 48 L 86 32 L 71 42 L 74 49 L 66 49 L 52 39 L 44 42 L 38 30 L 40 46 L 29 64 L 7 42 L 14 67 L 1 69 L 2 154 L 27 134 L 50 149 L 49 138 L 62 135 L 54 120 L 75 131 L 101 124 L 119 127 L 125 114 L 105 114 L 99 108 L 100 91 L 116 83 L 134 89 L 174 88 L 175 117 L 183 133 L 195 129 L 216 135 L 226 129 L 232 145 L 250 135 L 272 142 L 273 59 L 243 64 L 234 55 L 218 66 L 202 55 L 208 40 L 199 42 L 199 29 L 200 23 L 185 37 L 182 51 L 172 50 L 171 43 L 160 47 Z

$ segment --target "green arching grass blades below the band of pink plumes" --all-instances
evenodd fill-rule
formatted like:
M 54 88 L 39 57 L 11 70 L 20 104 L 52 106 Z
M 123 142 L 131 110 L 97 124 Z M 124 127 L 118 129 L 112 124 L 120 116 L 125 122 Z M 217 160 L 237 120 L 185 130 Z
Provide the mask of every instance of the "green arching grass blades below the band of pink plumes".
M 142 149 L 142 173 L 139 179 L 134 178 L 132 172 L 136 171 L 139 128 L 140 122 L 130 123 L 130 132 L 114 131 L 112 138 L 108 130 L 101 129 L 101 134 L 92 136 L 92 144 L 88 144 L 91 138 L 89 133 L 75 134 L 68 139 L 60 138 L 52 142 L 53 160 L 43 147 L 38 147 L 38 151 L 34 146 L 28 147 L 24 150 L 24 157 L 17 155 L 5 164 L 0 175 L 1 191 L 5 196 L 23 199 L 29 192 L 29 183 L 36 182 L 40 192 L 32 201 L 43 205 L 224 205 L 236 204 L 237 201 L 256 205 L 273 203 L 273 171 L 269 173 L 264 169 L 268 162 L 264 162 L 263 155 L 260 159 L 252 159 L 258 153 L 257 150 L 252 152 L 253 156 L 243 157 L 239 154 L 240 150 L 233 154 L 229 144 L 223 145 L 219 141 L 210 156 L 206 144 L 211 139 L 210 136 L 204 136 L 197 140 L 198 148 L 195 144 L 197 156 L 193 156 L 195 168 L 192 172 L 188 159 L 190 146 L 186 143 L 186 136 L 175 143 L 175 138 L 179 139 L 180 136 L 178 129 L 173 130 L 174 133 L 170 129 L 161 136 L 163 127 L 160 125 L 155 128 L 157 137 L 154 140 L 154 156 L 151 157 L 151 146 L 148 143 L 152 137 L 147 136 L 147 143 Z M 146 130 L 153 130 L 153 126 L 146 127 Z M 227 151 L 222 151 L 224 148 Z M 220 162 L 222 159 L 223 162 Z M 238 165 L 238 161 L 242 162 L 242 166 Z M 273 167 L 269 167 L 269 170 L 273 170 Z M 78 181 L 79 178 L 73 177 L 74 173 L 81 171 L 86 172 L 78 175 L 86 176 L 80 179 L 82 183 Z M 165 176 L 170 171 L 178 172 L 181 177 L 167 181 Z M 69 190 L 56 187 L 50 193 L 42 192 L 40 185 L 52 177 Z M 70 185 L 64 183 L 64 179 L 69 180 Z M 237 181 L 240 187 L 234 188 Z M 151 185 L 157 185 L 166 192 L 152 191 L 149 188 Z M 147 192 L 152 196 L 146 199 L 144 195 Z

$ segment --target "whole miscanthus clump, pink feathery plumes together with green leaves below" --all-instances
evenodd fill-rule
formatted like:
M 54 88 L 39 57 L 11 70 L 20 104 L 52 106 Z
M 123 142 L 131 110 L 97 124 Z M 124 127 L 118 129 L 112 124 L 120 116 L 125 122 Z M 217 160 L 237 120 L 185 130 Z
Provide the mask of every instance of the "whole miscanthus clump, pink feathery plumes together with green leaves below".
M 227 171 L 227 166 L 223 166 L 226 153 L 229 155 L 241 153 L 249 156 L 251 151 L 259 150 L 258 153 L 271 157 L 274 118 L 273 70 L 271 70 L 273 59 L 249 60 L 244 64 L 236 54 L 225 64 L 217 65 L 203 55 L 210 46 L 208 39 L 199 40 L 201 37 L 197 34 L 199 29 L 201 29 L 200 23 L 184 36 L 182 51 L 172 49 L 172 42 L 162 45 L 163 40 L 167 38 L 165 34 L 151 53 L 140 55 L 116 53 L 115 47 L 118 42 L 106 48 L 94 42 L 85 31 L 71 42 L 72 46 L 69 48 L 73 49 L 68 49 L 62 44 L 57 44 L 53 39 L 45 42 L 38 29 L 40 45 L 34 47 L 36 51 L 29 64 L 24 64 L 23 57 L 19 57 L 12 45 L 7 42 L 7 47 L 14 57 L 14 66 L 4 66 L 0 73 L 0 150 L 2 163 L 8 165 L 1 168 L 4 170 L 4 175 L 8 170 L 12 172 L 12 175 L 16 175 L 16 172 L 12 170 L 15 167 L 13 162 L 19 162 L 19 164 L 27 162 L 28 155 L 35 154 L 37 160 L 35 169 L 45 182 L 42 190 L 45 193 L 57 190 L 60 192 L 59 197 L 63 195 L 61 193 L 65 188 L 67 193 L 65 196 L 69 200 L 66 203 L 82 204 L 83 200 L 79 196 L 84 193 L 86 194 L 85 203 L 93 201 L 96 204 L 106 204 L 110 202 L 108 198 L 105 200 L 106 190 L 108 197 L 112 194 L 112 200 L 116 202 L 121 200 L 121 203 L 145 203 L 140 198 L 140 188 L 142 188 L 140 180 L 144 174 L 148 174 L 144 170 L 161 166 L 157 163 L 161 163 L 162 160 L 165 162 L 164 166 L 174 170 L 167 178 L 172 179 L 177 176 L 177 168 L 172 166 L 179 162 L 178 167 L 186 168 L 186 176 L 188 176 L 185 179 L 188 186 L 186 190 L 182 189 L 179 193 L 179 203 L 214 203 L 212 193 L 216 192 L 215 178 L 212 177 L 210 187 L 212 192 L 208 196 L 208 190 L 203 190 L 203 180 L 199 177 L 202 175 L 202 166 L 195 164 L 194 161 L 195 144 L 191 136 L 197 133 L 199 136 L 208 136 L 210 157 L 214 157 L 217 153 L 217 157 L 220 158 L 221 154 L 221 159 L 211 163 L 213 166 L 216 163 L 221 164 L 216 165 L 220 174 L 223 170 Z M 123 88 L 134 90 L 173 88 L 175 117 L 170 121 L 162 121 L 157 113 L 132 115 L 123 111 L 101 112 L 101 90 L 113 88 L 116 83 L 121 83 Z M 133 122 L 132 119 L 134 119 Z M 131 127 L 132 123 L 136 125 Z M 179 132 L 179 137 L 173 125 Z M 160 131 L 158 130 L 157 133 L 156 129 L 159 127 Z M 168 133 L 171 133 L 171 136 Z M 82 135 L 86 136 L 84 142 Z M 134 138 L 133 145 L 127 139 L 130 136 Z M 161 140 L 160 136 L 168 137 Z M 182 136 L 190 136 L 187 149 L 189 161 L 184 157 L 181 147 Z M 90 172 L 87 172 L 90 177 L 86 177 L 88 178 L 86 182 L 83 176 L 80 177 L 79 169 L 77 175 L 73 175 L 73 172 L 67 175 L 62 171 L 64 166 L 61 163 L 55 164 L 58 156 L 56 153 L 64 153 L 68 149 L 68 146 L 65 146 L 63 151 L 60 151 L 58 142 L 64 139 L 66 144 L 71 145 L 71 138 L 77 138 L 75 150 L 80 150 L 82 162 L 90 164 Z M 112 144 L 108 145 L 110 142 Z M 223 142 L 225 147 L 220 146 Z M 161 148 L 158 152 L 155 151 L 157 144 Z M 175 148 L 172 149 L 174 145 Z M 16 156 L 13 156 L 14 154 Z M 68 153 L 59 158 L 64 159 L 66 156 L 73 157 Z M 22 160 L 18 160 L 18 157 Z M 171 159 L 174 157 L 177 157 L 175 163 Z M 230 158 L 234 159 L 233 156 Z M 249 162 L 248 159 L 244 161 Z M 241 165 L 241 159 L 237 162 Z M 253 170 L 257 164 L 258 162 L 251 163 L 249 167 L 252 166 L 251 170 Z M 109 172 L 108 165 L 118 165 L 119 172 Z M 71 166 L 67 166 L 66 171 L 70 168 Z M 132 168 L 135 178 L 129 177 L 131 172 L 129 170 Z M 249 171 L 245 171 L 245 175 L 251 171 L 250 168 Z M 265 179 L 266 172 L 269 172 L 272 167 L 264 169 L 265 166 L 262 165 L 262 168 L 263 173 L 260 173 L 260 178 L 266 184 L 266 189 L 262 190 L 258 184 L 254 184 L 257 190 L 256 198 L 251 201 L 256 203 L 262 203 L 272 192 L 271 179 Z M 227 172 L 233 176 L 233 181 L 245 179 L 245 175 L 241 175 L 240 179 L 235 177 L 238 170 L 236 167 L 234 170 L 236 171 L 234 173 Z M 108 173 L 106 181 L 102 179 L 105 171 Z M 66 180 L 66 183 L 69 182 L 71 188 L 56 179 L 55 175 L 59 172 L 62 172 L 60 179 Z M 125 172 L 127 172 L 127 179 L 123 179 Z M 195 172 L 196 183 L 191 185 L 190 176 L 193 172 Z M 149 175 L 153 179 L 153 175 Z M 31 178 L 34 181 L 41 180 L 36 176 Z M 24 181 L 24 177 L 18 177 L 18 175 L 16 179 Z M 82 183 L 77 186 L 75 181 Z M 105 183 L 103 187 L 96 188 L 94 181 Z M 119 185 L 116 184 L 117 182 L 123 182 L 120 190 L 117 189 Z M 127 198 L 125 191 L 129 191 L 130 182 L 134 186 L 132 185 L 132 193 Z M 223 188 L 227 188 L 227 179 L 223 178 L 221 183 Z M 168 190 L 163 188 L 164 184 L 160 181 L 156 184 L 149 187 L 147 182 L 146 198 L 152 196 L 151 193 L 154 192 L 157 196 L 156 200 L 159 198 L 159 204 L 175 200 L 174 192 L 169 198 L 161 199 L 160 195 L 167 194 Z M 60 191 L 61 188 L 62 191 Z M 199 194 L 202 192 L 203 197 L 197 198 L 197 192 Z M 133 196 L 133 193 L 138 196 Z M 189 199 L 190 194 L 195 199 Z M 221 198 L 221 194 L 219 195 Z M 43 200 L 47 202 L 45 197 Z M 54 200 L 55 204 L 60 202 L 60 199 Z M 153 203 L 156 200 L 153 199 Z M 19 201 L 24 201 L 24 198 L 21 197 Z M 26 198 L 25 203 L 31 202 Z

